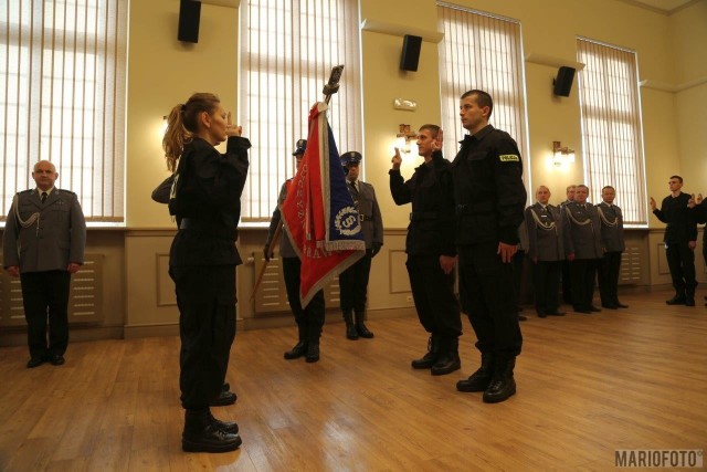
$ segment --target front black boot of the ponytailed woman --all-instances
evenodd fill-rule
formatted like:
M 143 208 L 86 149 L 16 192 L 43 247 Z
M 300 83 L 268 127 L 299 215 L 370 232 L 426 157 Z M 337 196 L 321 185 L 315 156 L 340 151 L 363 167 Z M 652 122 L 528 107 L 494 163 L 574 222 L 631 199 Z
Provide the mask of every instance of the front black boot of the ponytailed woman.
M 219 429 L 211 412 L 186 410 L 181 449 L 184 452 L 229 452 L 239 449 L 241 437 Z

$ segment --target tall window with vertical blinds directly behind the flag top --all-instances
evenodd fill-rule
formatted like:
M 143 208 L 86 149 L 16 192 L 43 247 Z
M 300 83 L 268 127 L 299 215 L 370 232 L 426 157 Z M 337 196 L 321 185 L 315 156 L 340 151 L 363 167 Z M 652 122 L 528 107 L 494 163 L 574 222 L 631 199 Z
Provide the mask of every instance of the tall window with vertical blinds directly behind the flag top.
M 267 221 L 281 185 L 295 172 L 295 143 L 333 66 L 344 64 L 329 124 L 339 153 L 362 150 L 356 0 L 241 2 L 241 119 L 251 148 L 243 221 Z

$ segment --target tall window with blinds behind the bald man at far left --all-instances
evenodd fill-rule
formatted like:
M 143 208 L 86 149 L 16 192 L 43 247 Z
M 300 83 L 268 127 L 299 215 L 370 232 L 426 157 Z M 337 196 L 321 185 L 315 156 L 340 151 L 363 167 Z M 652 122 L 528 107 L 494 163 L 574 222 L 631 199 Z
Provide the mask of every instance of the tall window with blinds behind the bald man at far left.
M 88 221 L 124 221 L 127 0 L 0 2 L 0 213 L 51 160 Z

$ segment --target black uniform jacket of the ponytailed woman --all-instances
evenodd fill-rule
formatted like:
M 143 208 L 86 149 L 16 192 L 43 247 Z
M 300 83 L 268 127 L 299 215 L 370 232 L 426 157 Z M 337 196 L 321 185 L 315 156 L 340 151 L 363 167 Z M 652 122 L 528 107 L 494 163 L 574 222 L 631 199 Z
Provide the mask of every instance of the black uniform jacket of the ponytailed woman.
M 181 221 L 170 266 L 242 263 L 235 240 L 250 147 L 240 136 L 229 136 L 224 155 L 199 137 L 184 146 L 169 202 Z

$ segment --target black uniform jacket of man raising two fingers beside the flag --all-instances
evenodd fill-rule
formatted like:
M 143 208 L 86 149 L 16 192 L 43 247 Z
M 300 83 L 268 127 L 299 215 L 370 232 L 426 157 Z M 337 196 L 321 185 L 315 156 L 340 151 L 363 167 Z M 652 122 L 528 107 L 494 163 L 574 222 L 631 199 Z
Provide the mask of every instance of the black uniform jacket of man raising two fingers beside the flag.
M 412 203 L 405 252 L 456 255 L 454 245 L 454 189 L 450 161 L 442 153 L 415 168 L 408 181 L 400 170 L 389 170 L 390 193 L 397 204 Z

